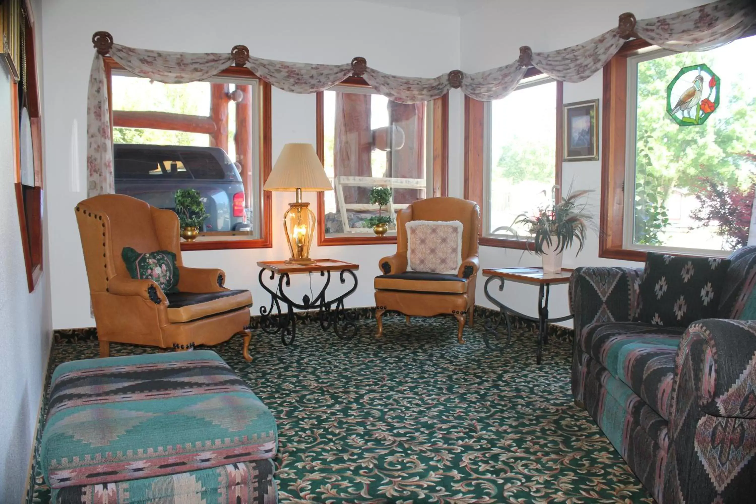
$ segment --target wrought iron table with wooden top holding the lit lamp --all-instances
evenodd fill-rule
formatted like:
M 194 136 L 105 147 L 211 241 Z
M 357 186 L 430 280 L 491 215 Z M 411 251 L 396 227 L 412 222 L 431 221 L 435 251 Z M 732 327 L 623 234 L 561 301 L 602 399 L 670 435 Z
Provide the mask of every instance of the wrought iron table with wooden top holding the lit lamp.
M 281 343 L 291 345 L 296 336 L 296 319 L 294 317 L 294 308 L 299 310 L 318 310 L 318 319 L 321 323 L 321 329 L 327 331 L 333 328 L 333 332 L 340 339 L 353 338 L 357 335 L 357 324 L 355 315 L 344 310 L 344 299 L 349 297 L 352 292 L 357 290 L 357 275 L 355 271 L 360 269 L 358 264 L 351 262 L 338 261 L 336 259 L 316 259 L 314 264 L 291 264 L 286 261 L 258 261 L 260 274 L 258 280 L 260 286 L 271 295 L 271 305 L 269 308 L 260 307 L 260 328 L 268 334 L 280 333 Z M 352 288 L 342 295 L 333 299 L 326 299 L 326 290 L 330 285 L 331 271 L 339 272 L 339 281 L 346 283 L 346 276 L 352 277 Z M 278 275 L 278 283 L 274 289 L 265 285 L 263 278 L 268 272 L 268 280 L 275 280 Z M 325 277 L 325 283 L 318 295 L 310 299 L 310 296 L 302 296 L 302 302 L 293 301 L 285 292 L 284 286 L 291 285 L 290 275 L 303 273 L 320 273 Z M 281 303 L 286 305 L 285 313 L 281 310 Z M 276 314 L 273 314 L 273 308 Z M 341 327 L 339 327 L 339 324 Z M 246 349 L 245 349 L 246 353 Z

